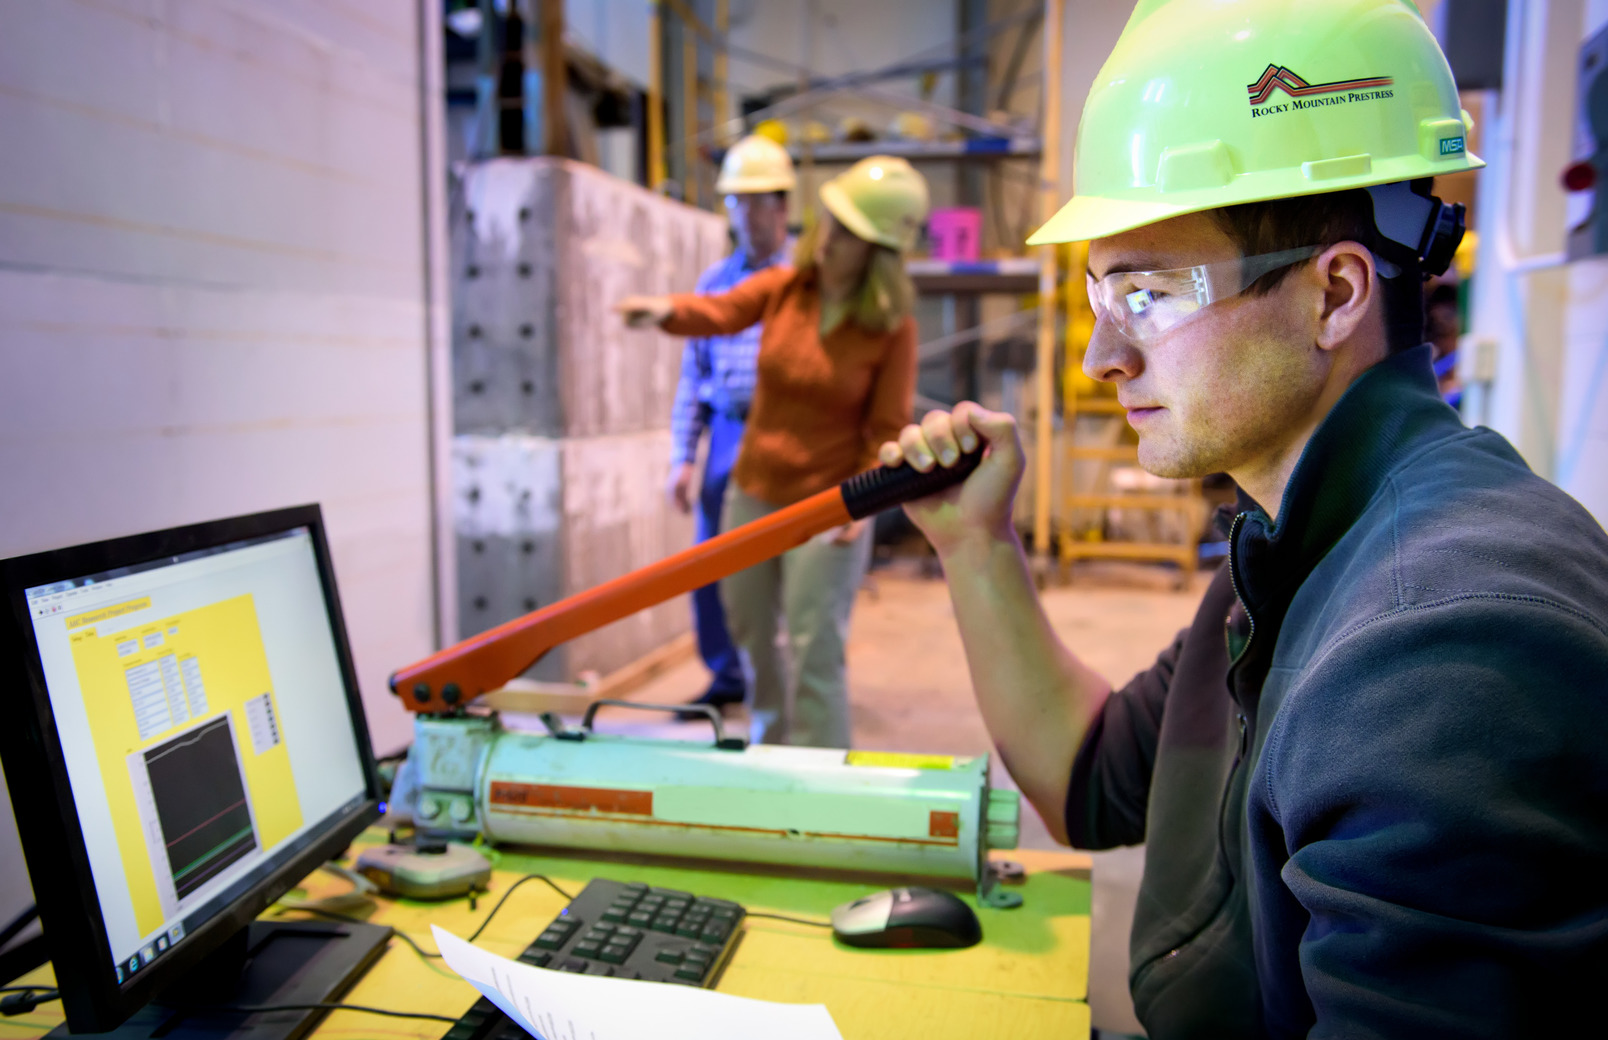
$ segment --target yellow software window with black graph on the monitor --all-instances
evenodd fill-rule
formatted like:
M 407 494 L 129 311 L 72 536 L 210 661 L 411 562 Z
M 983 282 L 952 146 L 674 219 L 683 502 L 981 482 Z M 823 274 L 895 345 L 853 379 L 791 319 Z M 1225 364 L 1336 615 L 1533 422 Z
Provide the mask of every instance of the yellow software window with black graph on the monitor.
M 68 619 L 142 932 L 302 825 L 252 598 L 101 635 L 146 608 Z

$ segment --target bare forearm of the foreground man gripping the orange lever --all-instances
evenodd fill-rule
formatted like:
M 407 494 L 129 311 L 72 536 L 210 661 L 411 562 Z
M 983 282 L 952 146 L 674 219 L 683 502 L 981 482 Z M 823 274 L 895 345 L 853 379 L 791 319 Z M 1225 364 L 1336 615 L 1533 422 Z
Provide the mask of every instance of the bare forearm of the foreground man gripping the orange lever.
M 1066 841 L 1066 783 L 1111 686 L 1055 635 L 1021 542 L 979 538 L 944 558 L 978 707 L 1050 833 Z

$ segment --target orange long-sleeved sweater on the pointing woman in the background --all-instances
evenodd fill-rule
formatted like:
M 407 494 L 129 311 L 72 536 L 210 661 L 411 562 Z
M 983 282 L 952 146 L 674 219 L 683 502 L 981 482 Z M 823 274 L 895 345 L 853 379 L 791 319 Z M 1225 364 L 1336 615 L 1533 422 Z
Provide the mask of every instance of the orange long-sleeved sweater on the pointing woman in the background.
M 728 336 L 754 321 L 759 378 L 732 479 L 772 505 L 791 505 L 876 461 L 910 421 L 915 318 L 872 333 L 852 318 L 820 336 L 815 273 L 769 267 L 728 293 L 672 296 L 664 331 Z

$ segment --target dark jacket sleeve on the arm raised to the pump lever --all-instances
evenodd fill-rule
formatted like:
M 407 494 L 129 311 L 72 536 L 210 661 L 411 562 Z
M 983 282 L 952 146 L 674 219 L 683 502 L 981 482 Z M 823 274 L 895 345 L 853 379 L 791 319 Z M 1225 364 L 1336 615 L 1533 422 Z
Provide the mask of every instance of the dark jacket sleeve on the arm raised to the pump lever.
M 1145 841 L 1150 776 L 1161 738 L 1161 709 L 1188 629 L 1106 698 L 1084 733 L 1066 788 L 1066 834 L 1074 849 L 1114 849 Z

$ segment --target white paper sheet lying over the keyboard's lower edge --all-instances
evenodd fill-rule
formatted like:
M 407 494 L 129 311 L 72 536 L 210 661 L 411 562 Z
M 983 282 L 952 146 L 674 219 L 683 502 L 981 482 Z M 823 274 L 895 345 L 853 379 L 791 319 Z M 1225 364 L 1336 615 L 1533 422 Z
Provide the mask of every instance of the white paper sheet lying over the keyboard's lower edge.
M 447 966 L 539 1040 L 843 1040 L 825 1005 L 532 968 L 431 931 Z

